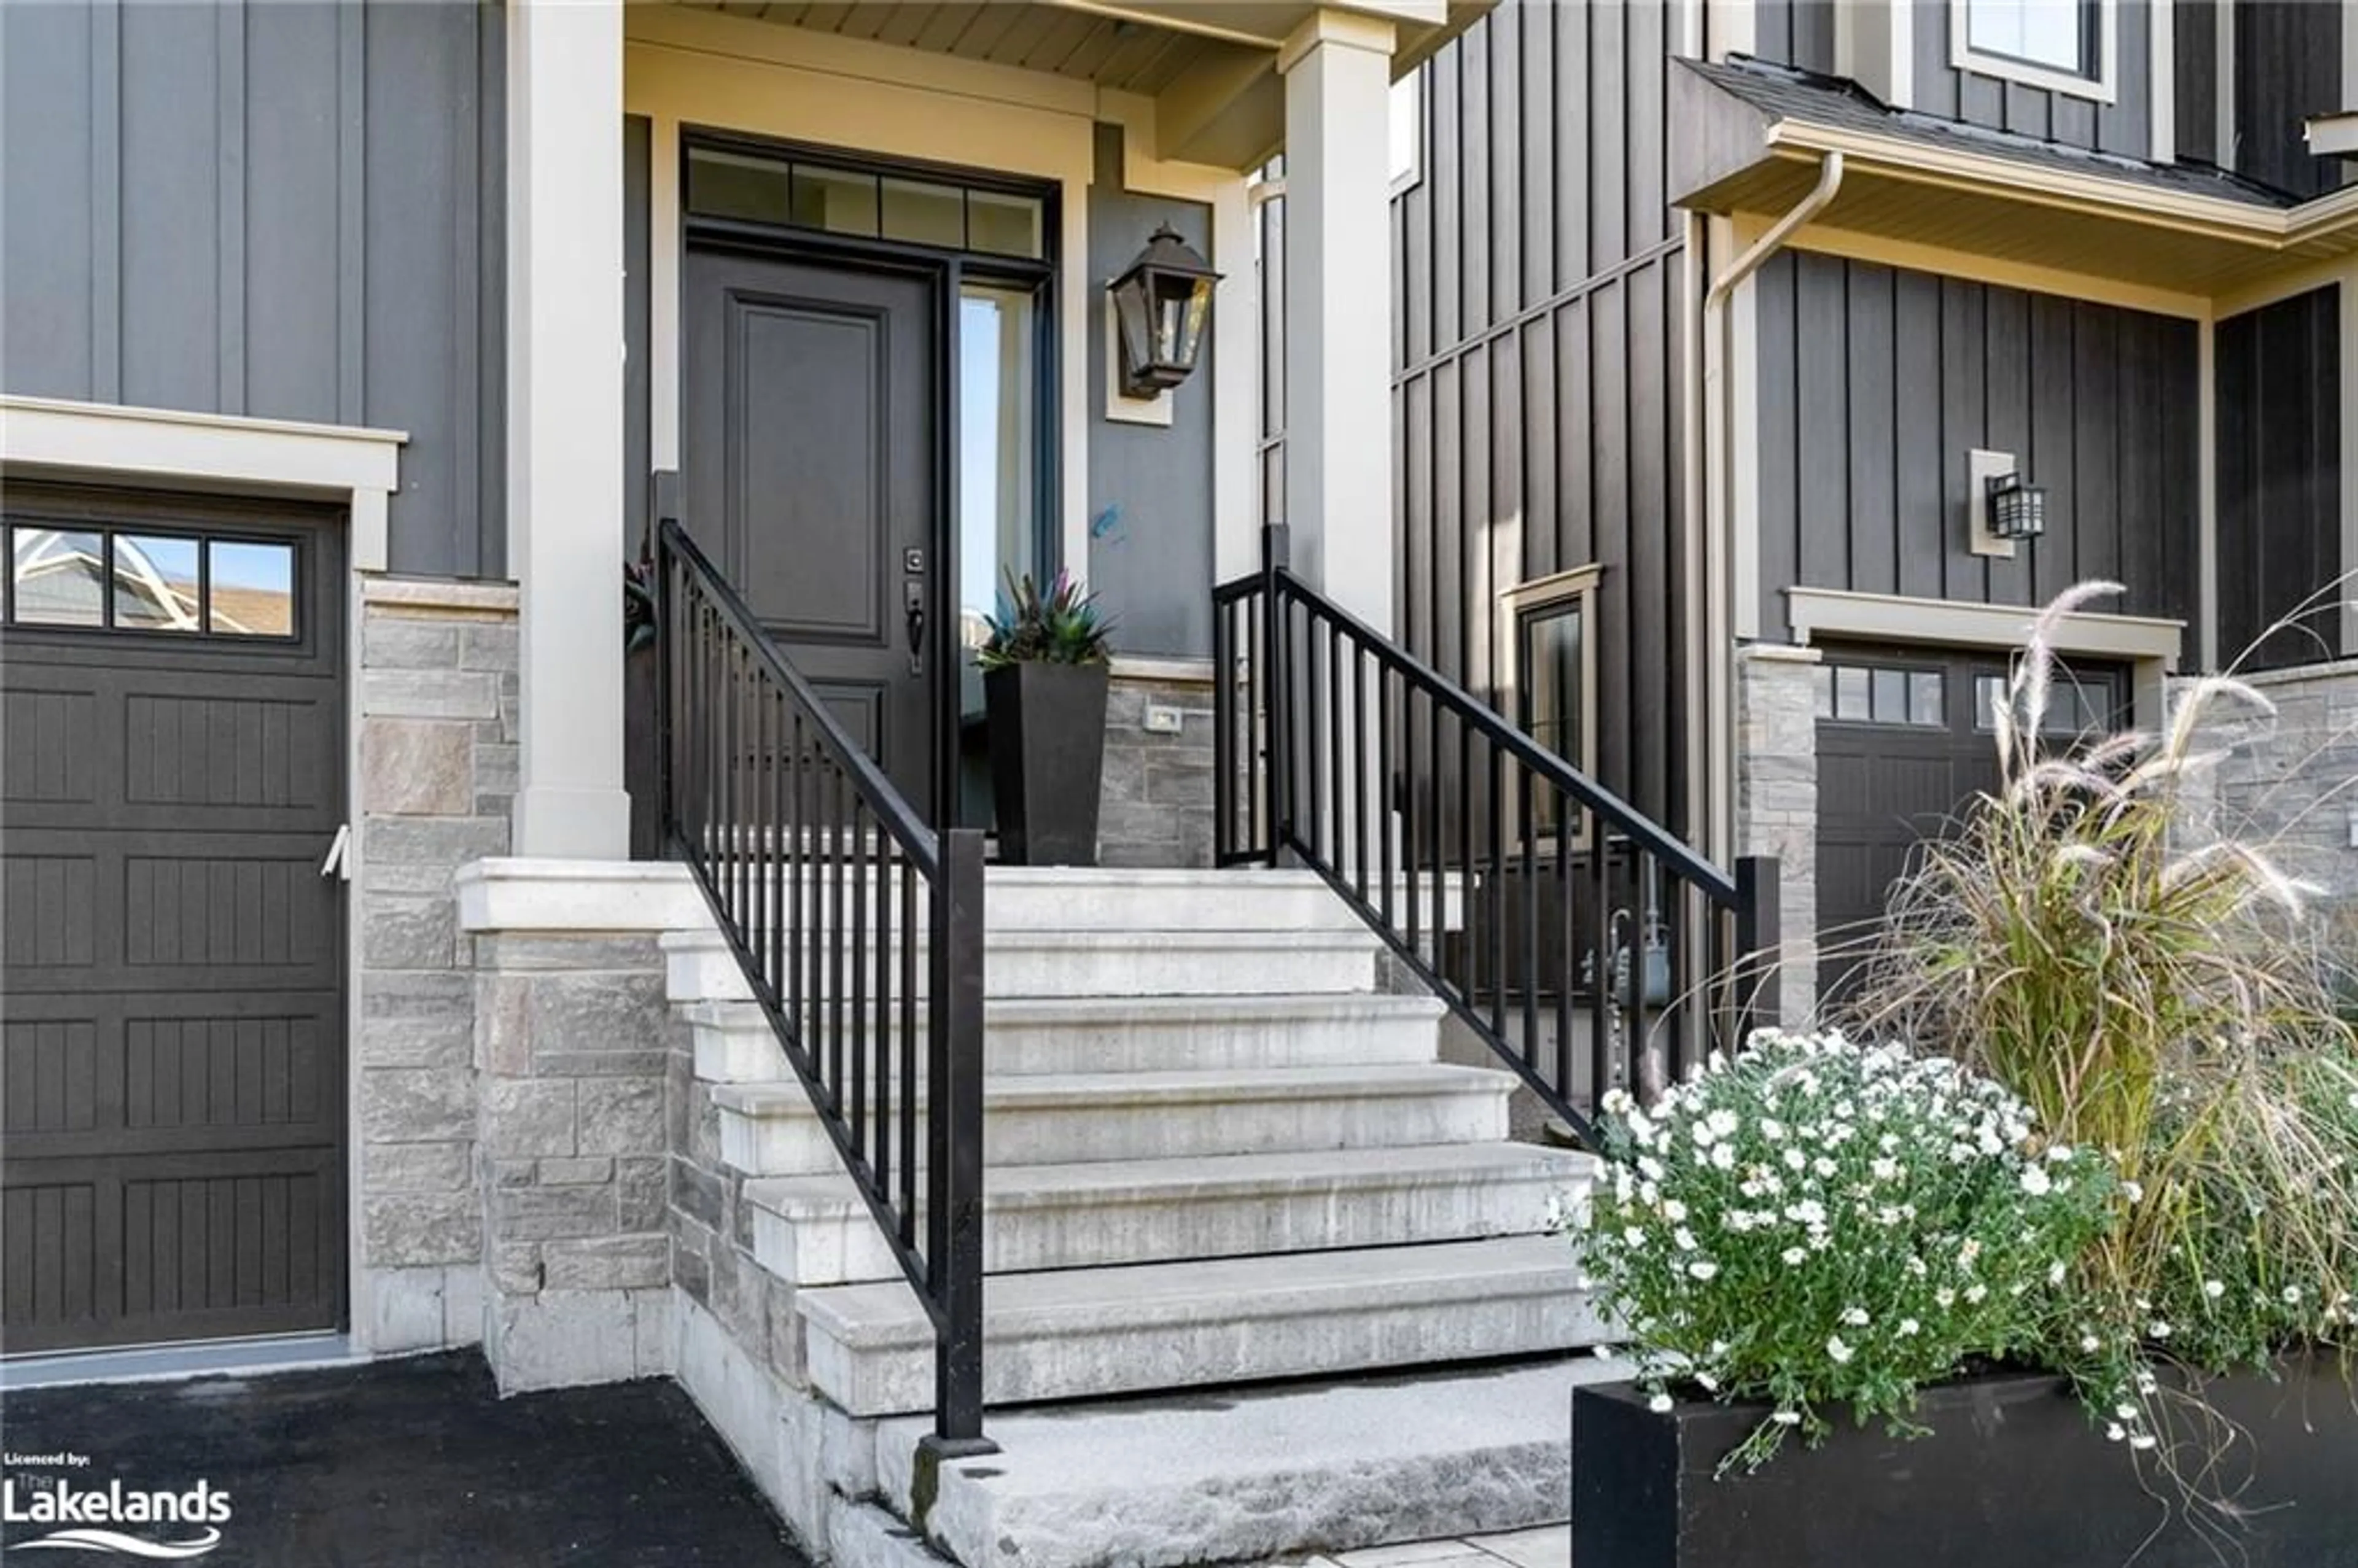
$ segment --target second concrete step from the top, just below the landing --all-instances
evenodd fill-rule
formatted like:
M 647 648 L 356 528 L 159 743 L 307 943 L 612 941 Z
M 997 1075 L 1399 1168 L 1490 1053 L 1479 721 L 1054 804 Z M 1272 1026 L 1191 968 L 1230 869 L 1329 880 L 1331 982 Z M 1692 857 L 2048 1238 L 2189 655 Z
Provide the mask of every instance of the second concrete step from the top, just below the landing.
M 1375 986 L 1375 936 L 1363 927 L 1311 931 L 993 929 L 983 950 L 983 990 L 993 997 L 1363 993 Z M 752 995 L 745 974 L 717 931 L 674 931 L 663 938 L 663 953 L 672 1002 L 743 1002 Z M 889 953 L 884 957 L 898 981 L 898 960 Z M 849 986 L 847 976 L 847 993 Z M 920 962 L 920 993 L 924 986 L 927 974 Z M 875 986 L 870 983 L 868 990 L 872 993 Z

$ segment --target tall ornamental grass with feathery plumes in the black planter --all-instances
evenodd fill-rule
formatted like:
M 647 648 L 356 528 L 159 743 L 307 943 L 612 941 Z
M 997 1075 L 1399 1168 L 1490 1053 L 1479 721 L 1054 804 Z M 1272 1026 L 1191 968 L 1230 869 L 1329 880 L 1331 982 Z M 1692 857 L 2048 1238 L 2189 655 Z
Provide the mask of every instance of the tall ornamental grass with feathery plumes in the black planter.
M 2323 889 L 2209 790 L 2221 736 L 2266 731 L 2266 693 L 2205 677 L 2160 733 L 2042 745 L 2056 632 L 2110 592 L 2040 613 L 1990 712 L 2000 792 L 1896 884 L 1849 1021 L 2110 1153 L 2120 1217 L 2077 1264 L 2087 1323 L 2054 1361 L 2153 1417 L 2146 1358 L 2228 1372 L 2351 1342 L 2358 1033 Z

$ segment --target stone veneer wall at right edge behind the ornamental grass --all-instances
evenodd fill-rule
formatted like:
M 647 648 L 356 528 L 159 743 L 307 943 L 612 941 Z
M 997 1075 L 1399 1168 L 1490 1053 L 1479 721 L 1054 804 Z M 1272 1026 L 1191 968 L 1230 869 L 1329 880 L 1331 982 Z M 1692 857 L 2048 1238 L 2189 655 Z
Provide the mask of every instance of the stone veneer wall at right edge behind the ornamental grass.
M 2235 703 L 2212 710 L 2233 755 L 2205 804 L 2226 832 L 2268 844 L 2287 872 L 2358 903 L 2358 660 L 2245 679 L 2275 703 L 2275 719 L 2240 722 Z

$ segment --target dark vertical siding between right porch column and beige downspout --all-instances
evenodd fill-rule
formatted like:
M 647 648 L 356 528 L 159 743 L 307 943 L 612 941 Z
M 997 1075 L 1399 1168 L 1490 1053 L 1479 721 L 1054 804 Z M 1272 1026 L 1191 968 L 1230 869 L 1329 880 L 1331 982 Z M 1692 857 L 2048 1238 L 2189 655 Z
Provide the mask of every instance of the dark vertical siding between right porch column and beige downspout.
M 1596 773 L 1684 828 L 1679 5 L 1507 0 L 1424 66 L 1391 203 L 1401 639 L 1504 707 L 1500 594 L 1599 564 Z

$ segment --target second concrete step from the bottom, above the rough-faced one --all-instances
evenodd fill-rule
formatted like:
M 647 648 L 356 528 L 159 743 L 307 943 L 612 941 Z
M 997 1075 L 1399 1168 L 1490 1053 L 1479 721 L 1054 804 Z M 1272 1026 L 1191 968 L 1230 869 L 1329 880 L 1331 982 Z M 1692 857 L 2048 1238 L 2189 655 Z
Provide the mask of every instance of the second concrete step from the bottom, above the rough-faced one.
M 934 1323 L 898 1280 L 806 1290 L 811 1386 L 851 1415 L 934 1408 Z M 1561 1236 L 1005 1273 L 983 1320 L 993 1405 L 1200 1389 L 1594 1344 Z

